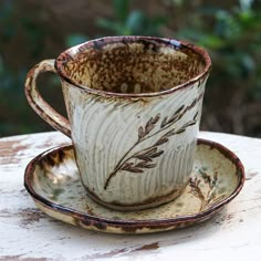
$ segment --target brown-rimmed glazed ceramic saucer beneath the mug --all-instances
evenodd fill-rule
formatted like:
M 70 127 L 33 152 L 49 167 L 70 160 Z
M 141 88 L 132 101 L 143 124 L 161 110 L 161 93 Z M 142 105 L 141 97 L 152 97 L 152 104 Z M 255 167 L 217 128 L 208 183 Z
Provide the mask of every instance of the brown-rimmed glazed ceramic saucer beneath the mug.
M 244 170 L 220 144 L 198 139 L 194 171 L 174 201 L 139 211 L 116 211 L 94 202 L 79 178 L 72 145 L 50 149 L 29 163 L 24 186 L 35 205 L 52 218 L 91 230 L 147 233 L 205 221 L 242 189 Z

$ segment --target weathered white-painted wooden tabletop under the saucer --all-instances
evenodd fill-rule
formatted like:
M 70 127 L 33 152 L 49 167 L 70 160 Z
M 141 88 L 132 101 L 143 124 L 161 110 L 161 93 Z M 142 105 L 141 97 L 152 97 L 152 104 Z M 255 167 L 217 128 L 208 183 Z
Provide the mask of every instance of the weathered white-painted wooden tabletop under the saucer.
M 54 220 L 23 187 L 27 164 L 70 144 L 60 133 L 0 139 L 0 260 L 205 260 L 261 258 L 261 139 L 200 133 L 242 160 L 247 180 L 225 209 L 200 225 L 152 234 L 106 234 Z

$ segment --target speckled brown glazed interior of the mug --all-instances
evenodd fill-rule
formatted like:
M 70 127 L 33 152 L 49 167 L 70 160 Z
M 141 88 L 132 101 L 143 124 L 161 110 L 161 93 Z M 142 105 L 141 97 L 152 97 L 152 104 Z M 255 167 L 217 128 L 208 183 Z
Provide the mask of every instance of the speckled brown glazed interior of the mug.
M 206 60 L 185 43 L 126 36 L 90 41 L 62 53 L 60 75 L 74 85 L 105 93 L 147 94 L 167 91 L 205 73 Z

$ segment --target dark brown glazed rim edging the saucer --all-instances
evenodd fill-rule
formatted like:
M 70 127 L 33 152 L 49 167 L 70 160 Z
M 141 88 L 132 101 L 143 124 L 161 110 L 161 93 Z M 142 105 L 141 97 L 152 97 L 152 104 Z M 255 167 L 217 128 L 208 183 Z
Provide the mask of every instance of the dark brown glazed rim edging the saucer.
M 143 229 L 143 228 L 167 228 L 171 227 L 178 223 L 194 223 L 200 220 L 205 220 L 208 217 L 211 217 L 216 211 L 221 209 L 225 205 L 230 202 L 242 189 L 246 175 L 244 175 L 244 168 L 240 159 L 228 148 L 222 146 L 221 144 L 207 140 L 207 139 L 198 139 L 198 145 L 207 145 L 210 147 L 210 149 L 218 149 L 226 158 L 231 160 L 233 165 L 237 168 L 237 175 L 239 176 L 239 182 L 234 191 L 226 199 L 221 200 L 220 202 L 211 206 L 209 209 L 195 213 L 195 215 L 187 215 L 187 216 L 181 216 L 181 217 L 176 217 L 176 218 L 168 218 L 168 219 L 146 219 L 146 220 L 116 220 L 116 219 L 107 219 L 98 216 L 93 216 L 86 212 L 81 212 L 77 210 L 73 210 L 72 208 L 66 208 L 63 207 L 59 203 L 54 203 L 46 198 L 40 196 L 36 194 L 32 187 L 32 175 L 35 170 L 35 166 L 41 161 L 44 157 L 46 157 L 48 154 L 50 153 L 58 153 L 60 149 L 72 149 L 72 145 L 67 146 L 61 146 L 56 148 L 49 149 L 42 154 L 40 154 L 38 157 L 32 159 L 29 165 L 27 166 L 25 169 L 25 175 L 24 175 L 24 187 L 27 188 L 28 192 L 41 205 L 44 207 L 52 209 L 54 211 L 61 212 L 65 216 L 74 217 L 77 220 L 81 220 L 83 223 L 92 223 L 94 227 L 97 228 L 104 228 L 106 226 L 113 226 L 113 227 L 118 227 L 125 230 L 126 232 L 129 231 L 135 231 L 137 229 Z M 101 229 L 102 230 L 102 229 Z

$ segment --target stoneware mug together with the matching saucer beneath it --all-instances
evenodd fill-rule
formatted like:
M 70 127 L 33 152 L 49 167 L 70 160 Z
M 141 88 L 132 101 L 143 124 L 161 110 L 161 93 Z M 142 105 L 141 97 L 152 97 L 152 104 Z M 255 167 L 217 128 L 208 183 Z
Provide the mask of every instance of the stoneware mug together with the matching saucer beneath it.
M 182 228 L 220 210 L 244 171 L 228 148 L 197 138 L 210 69 L 201 48 L 150 36 L 97 39 L 35 65 L 28 102 L 72 139 L 29 163 L 24 184 L 35 205 L 113 233 Z M 38 91 L 46 71 L 61 80 L 67 118 Z

